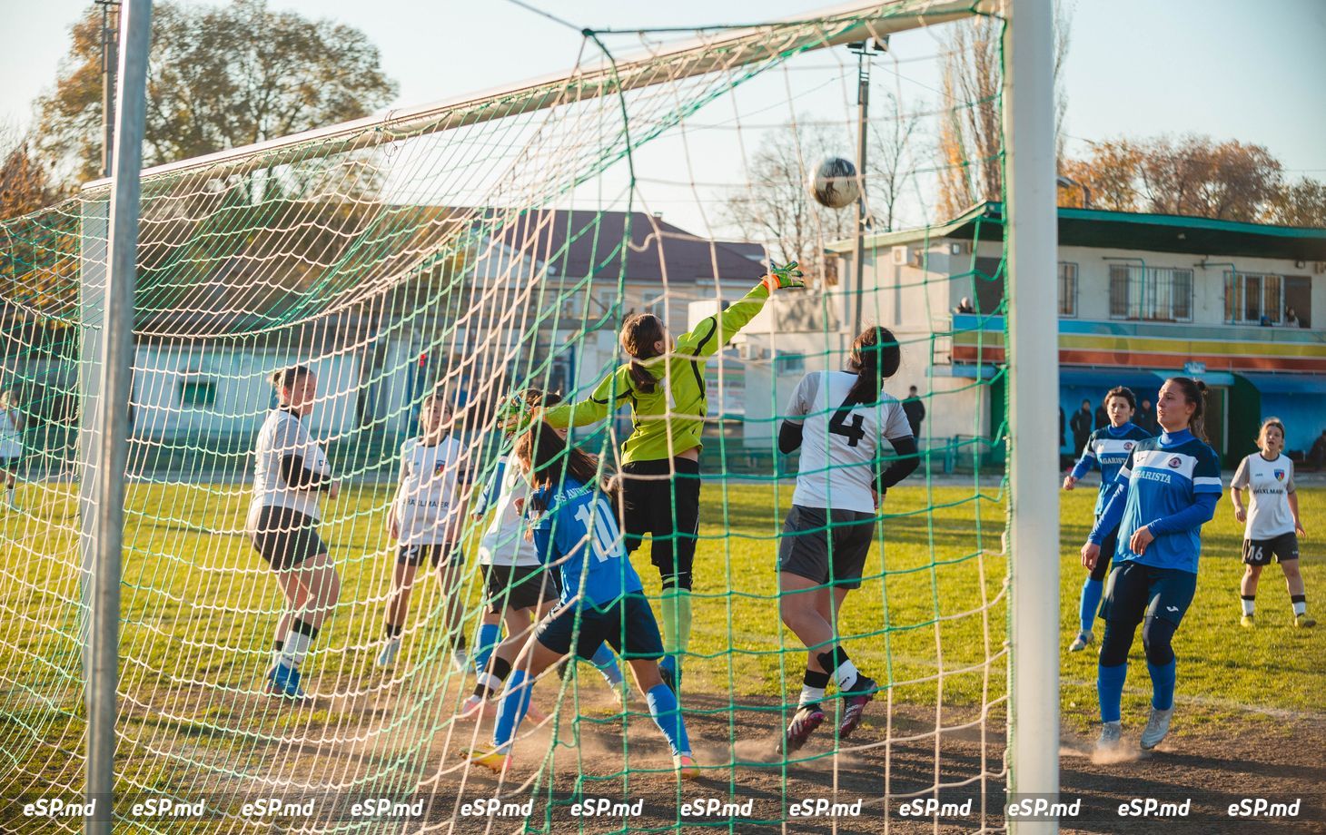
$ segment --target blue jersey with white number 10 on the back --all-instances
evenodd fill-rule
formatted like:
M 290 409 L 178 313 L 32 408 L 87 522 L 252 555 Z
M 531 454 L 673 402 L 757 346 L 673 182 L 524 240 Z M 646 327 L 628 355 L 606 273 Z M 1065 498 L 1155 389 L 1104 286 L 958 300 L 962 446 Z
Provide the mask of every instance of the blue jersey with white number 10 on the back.
M 534 547 L 561 573 L 564 604 L 578 596 L 577 608 L 602 610 L 643 588 L 626 557 L 617 513 L 595 486 L 568 476 L 556 490 L 541 488 L 534 500 L 548 508 L 533 524 Z

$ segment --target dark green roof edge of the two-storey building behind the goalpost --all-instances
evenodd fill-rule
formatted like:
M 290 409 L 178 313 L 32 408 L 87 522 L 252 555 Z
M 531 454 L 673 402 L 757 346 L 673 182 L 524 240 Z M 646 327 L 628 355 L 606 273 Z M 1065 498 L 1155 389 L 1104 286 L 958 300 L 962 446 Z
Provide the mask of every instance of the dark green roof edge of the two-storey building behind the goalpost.
M 1326 229 L 1062 207 L 1058 213 L 1061 247 L 1326 261 Z M 979 203 L 939 227 L 871 235 L 866 247 L 878 250 L 937 239 L 1004 240 L 1004 204 Z M 855 245 L 855 239 L 846 239 L 826 249 L 850 256 Z

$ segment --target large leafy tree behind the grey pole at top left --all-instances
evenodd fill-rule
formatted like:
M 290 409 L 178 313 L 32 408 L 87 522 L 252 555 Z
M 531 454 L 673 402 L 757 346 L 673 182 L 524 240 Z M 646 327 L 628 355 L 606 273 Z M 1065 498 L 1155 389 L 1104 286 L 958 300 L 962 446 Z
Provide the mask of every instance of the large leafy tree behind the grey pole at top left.
M 54 91 L 37 101 L 45 150 L 76 180 L 101 164 L 99 50 L 101 15 L 89 9 Z M 359 118 L 396 93 L 362 32 L 265 0 L 156 4 L 147 72 L 145 166 Z

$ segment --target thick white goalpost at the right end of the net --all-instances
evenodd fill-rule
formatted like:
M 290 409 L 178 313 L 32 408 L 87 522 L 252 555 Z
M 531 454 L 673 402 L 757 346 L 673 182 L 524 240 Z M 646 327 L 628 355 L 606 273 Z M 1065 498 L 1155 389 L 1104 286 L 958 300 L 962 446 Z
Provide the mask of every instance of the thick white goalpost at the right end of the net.
M 1059 790 L 1059 402 L 1050 0 L 1008 0 L 1004 148 L 1008 188 L 1009 799 Z M 1016 795 L 1016 797 L 1014 797 Z M 1008 822 L 1017 835 L 1057 820 Z

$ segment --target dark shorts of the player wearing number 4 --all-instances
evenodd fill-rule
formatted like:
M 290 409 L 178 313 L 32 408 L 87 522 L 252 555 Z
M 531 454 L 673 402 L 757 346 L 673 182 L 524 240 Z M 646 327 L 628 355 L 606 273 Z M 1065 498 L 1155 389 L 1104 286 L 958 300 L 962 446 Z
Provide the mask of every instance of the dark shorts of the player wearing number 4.
M 875 541 L 875 518 L 859 510 L 792 505 L 778 541 L 778 570 L 817 583 L 861 588 L 861 571 Z

